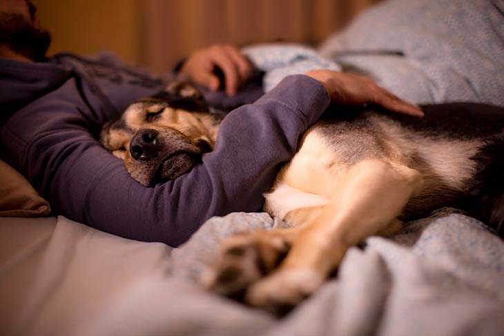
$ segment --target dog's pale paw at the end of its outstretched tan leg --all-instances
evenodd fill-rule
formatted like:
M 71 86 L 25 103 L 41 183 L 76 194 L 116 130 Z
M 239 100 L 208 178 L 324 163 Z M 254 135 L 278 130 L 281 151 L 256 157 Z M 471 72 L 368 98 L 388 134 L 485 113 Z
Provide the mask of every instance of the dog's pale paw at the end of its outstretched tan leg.
M 253 284 L 246 292 L 245 302 L 284 315 L 322 285 L 324 277 L 316 270 L 279 269 Z

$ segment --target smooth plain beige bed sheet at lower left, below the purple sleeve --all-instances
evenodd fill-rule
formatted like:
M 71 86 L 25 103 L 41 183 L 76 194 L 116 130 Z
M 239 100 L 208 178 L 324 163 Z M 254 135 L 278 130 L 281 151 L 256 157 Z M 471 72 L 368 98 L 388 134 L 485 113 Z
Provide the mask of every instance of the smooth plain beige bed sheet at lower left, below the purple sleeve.
M 119 302 L 142 292 L 141 284 L 162 282 L 171 255 L 164 244 L 64 217 L 2 217 L 0 237 L 1 335 L 97 331 Z

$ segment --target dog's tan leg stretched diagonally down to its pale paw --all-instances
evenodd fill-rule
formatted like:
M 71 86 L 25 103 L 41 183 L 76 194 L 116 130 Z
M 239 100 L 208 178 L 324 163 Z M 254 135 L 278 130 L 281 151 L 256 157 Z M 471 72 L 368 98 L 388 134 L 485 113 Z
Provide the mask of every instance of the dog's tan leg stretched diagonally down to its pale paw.
M 348 168 L 341 186 L 315 219 L 300 226 L 280 267 L 249 287 L 249 304 L 278 313 L 313 293 L 349 247 L 394 222 L 420 192 L 422 179 L 417 170 L 373 159 Z

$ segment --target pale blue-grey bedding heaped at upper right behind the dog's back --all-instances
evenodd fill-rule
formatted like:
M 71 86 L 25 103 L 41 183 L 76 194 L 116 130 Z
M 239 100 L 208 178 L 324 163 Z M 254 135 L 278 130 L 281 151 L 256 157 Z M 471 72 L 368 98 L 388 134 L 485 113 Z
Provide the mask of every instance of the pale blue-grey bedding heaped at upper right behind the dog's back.
M 504 1 L 384 1 L 320 53 L 414 103 L 504 106 Z

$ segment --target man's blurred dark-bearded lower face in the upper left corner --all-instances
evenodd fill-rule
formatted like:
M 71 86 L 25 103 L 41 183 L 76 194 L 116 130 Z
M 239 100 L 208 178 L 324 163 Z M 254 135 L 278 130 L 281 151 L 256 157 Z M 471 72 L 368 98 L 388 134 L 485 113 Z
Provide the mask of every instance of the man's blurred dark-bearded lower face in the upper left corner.
M 50 34 L 40 27 L 30 0 L 0 0 L 0 43 L 33 61 L 45 59 Z

